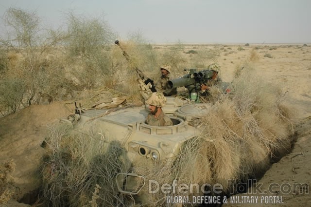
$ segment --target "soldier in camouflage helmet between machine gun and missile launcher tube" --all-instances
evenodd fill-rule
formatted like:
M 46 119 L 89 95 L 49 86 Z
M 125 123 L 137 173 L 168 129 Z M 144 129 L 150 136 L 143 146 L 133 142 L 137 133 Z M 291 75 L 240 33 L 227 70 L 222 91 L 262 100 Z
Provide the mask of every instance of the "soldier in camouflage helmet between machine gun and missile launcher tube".
M 167 81 L 170 80 L 170 74 L 171 74 L 170 70 L 171 70 L 170 65 L 162 65 L 160 67 L 161 76 L 158 80 L 158 83 L 156 84 L 156 90 L 158 92 L 163 93 L 164 96 L 171 96 L 171 95 L 175 95 L 177 93 L 176 89 L 168 89 L 166 87 Z

